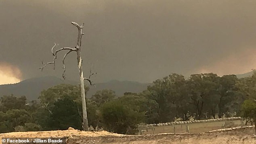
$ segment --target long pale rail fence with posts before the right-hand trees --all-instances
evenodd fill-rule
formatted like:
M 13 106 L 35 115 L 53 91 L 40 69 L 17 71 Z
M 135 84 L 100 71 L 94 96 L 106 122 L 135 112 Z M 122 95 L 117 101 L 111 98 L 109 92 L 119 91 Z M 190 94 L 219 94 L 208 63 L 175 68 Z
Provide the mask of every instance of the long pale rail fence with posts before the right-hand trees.
M 243 126 L 241 117 L 229 117 L 221 119 L 206 119 L 195 121 L 174 121 L 170 123 L 141 124 L 138 126 L 138 134 L 160 133 L 200 133 L 221 128 Z

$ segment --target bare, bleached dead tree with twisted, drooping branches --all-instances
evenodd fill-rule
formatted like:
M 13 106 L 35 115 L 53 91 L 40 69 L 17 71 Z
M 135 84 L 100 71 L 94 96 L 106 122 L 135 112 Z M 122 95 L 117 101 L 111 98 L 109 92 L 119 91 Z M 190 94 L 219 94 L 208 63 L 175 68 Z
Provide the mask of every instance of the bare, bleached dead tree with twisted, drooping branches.
M 65 71 L 66 71 L 66 67 L 65 67 L 65 58 L 67 57 L 67 55 L 73 51 L 75 51 L 77 53 L 77 61 L 78 61 L 78 70 L 79 70 L 79 74 L 80 74 L 80 86 L 81 86 L 81 98 L 82 98 L 82 113 L 83 113 L 83 128 L 84 131 L 88 131 L 88 119 L 87 119 L 87 111 L 86 111 L 86 101 L 85 101 L 85 92 L 84 92 L 84 80 L 87 80 L 89 82 L 90 85 L 94 85 L 92 84 L 92 81 L 90 80 L 90 77 L 92 75 L 94 75 L 94 73 L 92 73 L 92 71 L 90 70 L 90 75 L 88 78 L 85 78 L 83 75 L 83 70 L 82 70 L 82 56 L 81 56 L 81 45 L 82 45 L 82 36 L 84 35 L 84 33 L 82 33 L 82 30 L 84 28 L 84 23 L 79 26 L 78 23 L 75 22 L 71 22 L 74 26 L 76 26 L 78 28 L 78 41 L 77 41 L 77 45 L 74 48 L 71 47 L 62 47 L 58 50 L 53 50 L 56 46 L 58 46 L 58 44 L 55 43 L 55 45 L 52 47 L 52 55 L 54 56 L 53 61 L 52 62 L 47 62 L 46 64 L 44 64 L 44 62 L 42 62 L 43 66 L 39 69 L 43 70 L 48 64 L 53 64 L 53 69 L 55 69 L 55 60 L 57 59 L 57 53 L 59 51 L 63 51 L 63 50 L 68 50 L 67 53 L 63 56 L 62 59 L 62 64 L 63 64 L 63 73 L 62 73 L 62 77 L 63 79 L 65 79 Z M 95 73 L 96 74 L 96 73 Z

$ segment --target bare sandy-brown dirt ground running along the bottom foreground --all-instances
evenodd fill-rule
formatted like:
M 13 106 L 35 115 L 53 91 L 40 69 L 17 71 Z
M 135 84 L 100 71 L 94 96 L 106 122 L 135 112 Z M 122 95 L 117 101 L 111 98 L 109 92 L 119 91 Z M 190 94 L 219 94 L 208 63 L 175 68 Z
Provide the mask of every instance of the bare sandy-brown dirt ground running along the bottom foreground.
M 68 144 L 256 144 L 254 127 L 216 130 L 201 134 L 157 134 L 122 135 L 102 132 L 82 132 L 78 130 L 13 132 L 0 134 L 0 138 L 46 138 L 67 137 Z

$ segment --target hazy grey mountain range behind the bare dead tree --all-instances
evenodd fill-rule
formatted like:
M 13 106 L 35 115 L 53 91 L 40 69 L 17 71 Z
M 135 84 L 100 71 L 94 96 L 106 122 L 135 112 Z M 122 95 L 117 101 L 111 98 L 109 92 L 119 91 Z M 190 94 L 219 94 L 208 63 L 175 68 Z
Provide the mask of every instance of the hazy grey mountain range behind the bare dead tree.
M 0 85 L 0 97 L 3 95 L 13 94 L 16 97 L 25 95 L 29 101 L 38 100 L 40 92 L 57 84 L 79 84 L 80 82 L 71 80 L 62 80 L 55 76 L 47 76 L 40 78 L 30 78 L 16 84 Z M 111 89 L 115 91 L 117 96 L 122 96 L 125 92 L 138 93 L 147 89 L 149 83 L 140 83 L 133 81 L 111 80 L 109 82 L 97 83 L 96 87 L 90 86 L 88 97 L 91 97 L 96 91 L 103 89 Z

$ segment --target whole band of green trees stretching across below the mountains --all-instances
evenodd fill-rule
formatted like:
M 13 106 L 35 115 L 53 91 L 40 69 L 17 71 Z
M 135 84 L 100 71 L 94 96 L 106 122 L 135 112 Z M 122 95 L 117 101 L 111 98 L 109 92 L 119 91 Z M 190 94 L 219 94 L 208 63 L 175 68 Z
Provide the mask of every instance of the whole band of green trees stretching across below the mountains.
M 85 86 L 85 92 L 89 88 Z M 0 133 L 83 130 L 79 85 L 59 84 L 43 90 L 38 101 L 25 96 L 0 98 Z M 136 134 L 139 123 L 165 123 L 241 116 L 256 117 L 256 72 L 247 78 L 236 75 L 170 74 L 157 79 L 141 93 L 117 97 L 112 90 L 86 97 L 88 123 L 120 134 Z

